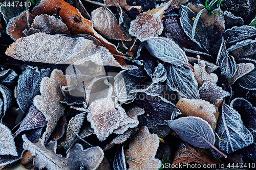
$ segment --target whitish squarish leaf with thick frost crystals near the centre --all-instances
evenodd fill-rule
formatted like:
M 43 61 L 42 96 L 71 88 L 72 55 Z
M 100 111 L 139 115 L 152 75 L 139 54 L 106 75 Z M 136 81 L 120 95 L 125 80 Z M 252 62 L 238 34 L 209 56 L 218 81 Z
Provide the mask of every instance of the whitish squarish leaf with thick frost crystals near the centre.
M 115 105 L 109 98 L 92 102 L 89 106 L 87 119 L 100 141 L 105 140 L 114 130 L 122 126 L 125 128 L 120 133 L 139 124 L 138 120 L 127 116 L 120 104 Z

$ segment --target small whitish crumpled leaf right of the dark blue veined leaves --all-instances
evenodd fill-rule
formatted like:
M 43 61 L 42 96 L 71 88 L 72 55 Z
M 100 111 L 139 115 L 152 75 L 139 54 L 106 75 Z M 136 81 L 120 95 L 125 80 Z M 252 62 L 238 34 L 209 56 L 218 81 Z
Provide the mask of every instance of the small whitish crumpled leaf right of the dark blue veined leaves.
M 206 81 L 209 81 L 211 83 L 216 83 L 218 81 L 218 76 L 214 73 L 208 74 L 205 67 L 206 63 L 202 60 L 199 60 L 198 64 L 194 64 L 194 75 L 199 87 L 202 86 L 202 84 Z

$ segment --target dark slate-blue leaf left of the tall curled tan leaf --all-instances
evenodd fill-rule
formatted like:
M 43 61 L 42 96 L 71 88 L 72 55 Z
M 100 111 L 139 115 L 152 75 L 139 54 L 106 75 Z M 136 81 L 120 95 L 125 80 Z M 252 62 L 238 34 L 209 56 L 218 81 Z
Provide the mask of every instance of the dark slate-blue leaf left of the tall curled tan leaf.
M 18 78 L 17 104 L 24 113 L 27 113 L 33 99 L 39 93 L 42 78 L 50 75 L 50 69 L 38 70 L 37 67 L 27 66 Z

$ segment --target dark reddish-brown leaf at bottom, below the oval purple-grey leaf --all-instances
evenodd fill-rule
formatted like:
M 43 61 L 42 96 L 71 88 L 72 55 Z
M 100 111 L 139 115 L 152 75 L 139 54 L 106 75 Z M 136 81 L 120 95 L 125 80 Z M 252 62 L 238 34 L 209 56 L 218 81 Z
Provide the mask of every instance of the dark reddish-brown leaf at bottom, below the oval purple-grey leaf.
M 179 163 L 190 163 L 196 162 L 200 164 L 206 164 L 204 160 L 200 157 L 199 153 L 192 147 L 190 147 L 187 143 L 185 143 L 184 147 L 179 148 L 174 156 L 173 164 Z

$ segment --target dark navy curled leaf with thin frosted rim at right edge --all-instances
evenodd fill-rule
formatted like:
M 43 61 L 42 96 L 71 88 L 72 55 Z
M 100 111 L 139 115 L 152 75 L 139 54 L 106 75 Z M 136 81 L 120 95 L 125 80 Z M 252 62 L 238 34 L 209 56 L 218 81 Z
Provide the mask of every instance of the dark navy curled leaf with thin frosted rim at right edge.
M 230 106 L 239 112 L 244 125 L 256 131 L 256 108 L 243 98 L 236 98 L 231 101 Z

